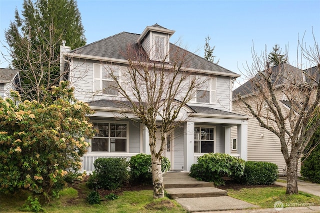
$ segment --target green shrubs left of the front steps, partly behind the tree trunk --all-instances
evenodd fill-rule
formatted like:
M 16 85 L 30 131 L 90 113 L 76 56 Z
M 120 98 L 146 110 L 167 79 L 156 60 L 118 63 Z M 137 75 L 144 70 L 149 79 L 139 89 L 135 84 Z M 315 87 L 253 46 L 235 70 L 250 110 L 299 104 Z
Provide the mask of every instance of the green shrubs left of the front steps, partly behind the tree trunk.
M 129 162 L 122 158 L 98 158 L 94 161 L 94 171 L 86 185 L 89 189 L 114 190 L 125 183 L 151 184 L 151 155 L 137 154 Z M 170 162 L 162 157 L 161 170 L 170 169 Z

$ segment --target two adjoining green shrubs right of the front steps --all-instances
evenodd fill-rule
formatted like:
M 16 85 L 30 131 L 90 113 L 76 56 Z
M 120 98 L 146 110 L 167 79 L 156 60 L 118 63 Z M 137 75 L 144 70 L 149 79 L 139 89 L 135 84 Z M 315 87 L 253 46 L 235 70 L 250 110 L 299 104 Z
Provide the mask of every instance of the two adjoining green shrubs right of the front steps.
M 190 176 L 197 180 L 224 185 L 223 177 L 247 185 L 270 185 L 277 177 L 277 165 L 268 162 L 254 162 L 237 159 L 228 154 L 207 153 L 198 158 L 190 168 Z

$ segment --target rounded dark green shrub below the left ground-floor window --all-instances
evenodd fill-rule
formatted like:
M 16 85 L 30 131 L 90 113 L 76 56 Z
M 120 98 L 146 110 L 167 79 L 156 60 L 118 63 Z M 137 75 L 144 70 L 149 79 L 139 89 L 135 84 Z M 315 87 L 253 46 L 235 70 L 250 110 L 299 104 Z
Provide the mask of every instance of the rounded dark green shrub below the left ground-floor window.
M 122 158 L 98 158 L 86 186 L 89 189 L 114 190 L 128 181 L 128 163 Z

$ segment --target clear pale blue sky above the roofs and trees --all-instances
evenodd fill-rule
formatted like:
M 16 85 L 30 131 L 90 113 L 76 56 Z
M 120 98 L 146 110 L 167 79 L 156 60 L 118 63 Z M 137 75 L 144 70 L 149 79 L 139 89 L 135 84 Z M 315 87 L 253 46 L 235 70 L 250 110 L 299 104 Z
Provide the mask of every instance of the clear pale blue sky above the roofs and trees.
M 4 30 L 21 11 L 23 0 L 0 0 L 0 51 Z M 289 62 L 296 65 L 297 40 L 313 45 L 320 37 L 320 0 L 77 0 L 87 43 L 126 31 L 141 33 L 147 25 L 175 30 L 170 41 L 182 42 L 191 52 L 204 54 L 205 37 L 215 46 L 219 65 L 233 72 L 245 72 L 251 64 L 251 48 L 272 50 L 288 47 Z M 67 44 L 66 44 L 67 45 Z M 8 63 L 0 56 L 0 67 Z M 307 65 L 305 65 L 307 68 Z M 239 81 L 243 81 L 239 78 Z

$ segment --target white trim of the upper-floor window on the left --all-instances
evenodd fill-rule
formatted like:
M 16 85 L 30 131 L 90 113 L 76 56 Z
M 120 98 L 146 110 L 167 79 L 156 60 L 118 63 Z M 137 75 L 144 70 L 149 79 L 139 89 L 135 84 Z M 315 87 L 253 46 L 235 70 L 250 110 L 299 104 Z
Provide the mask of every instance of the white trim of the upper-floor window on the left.
M 97 78 L 97 77 L 95 77 L 95 65 L 99 65 L 99 77 Z M 105 66 L 112 66 L 113 68 L 114 67 L 116 67 L 117 69 L 118 69 L 118 76 L 120 76 L 120 72 L 121 72 L 121 67 L 120 66 L 116 66 L 116 65 L 109 65 L 109 64 L 101 64 L 101 63 L 93 63 L 92 64 L 92 67 L 93 67 L 93 73 L 92 73 L 92 77 L 93 77 L 93 84 L 92 84 L 92 88 L 93 88 L 93 92 L 99 92 L 99 95 L 105 95 L 105 96 L 118 96 L 119 95 L 119 93 L 117 92 L 117 94 L 116 95 L 113 95 L 113 94 L 105 94 L 105 93 L 103 93 L 103 88 L 102 88 L 102 86 L 103 86 L 103 81 L 110 81 L 110 82 L 114 82 L 115 83 L 115 81 L 112 79 L 112 78 L 103 78 L 103 76 L 102 76 L 102 70 L 103 69 L 105 69 L 105 72 L 106 73 L 109 73 L 109 71 L 108 71 L 108 69 L 105 67 Z M 96 90 L 95 89 L 95 85 L 94 85 L 94 82 L 95 81 L 99 81 L 99 89 L 98 90 Z M 119 81 L 120 81 L 120 79 L 119 79 Z

